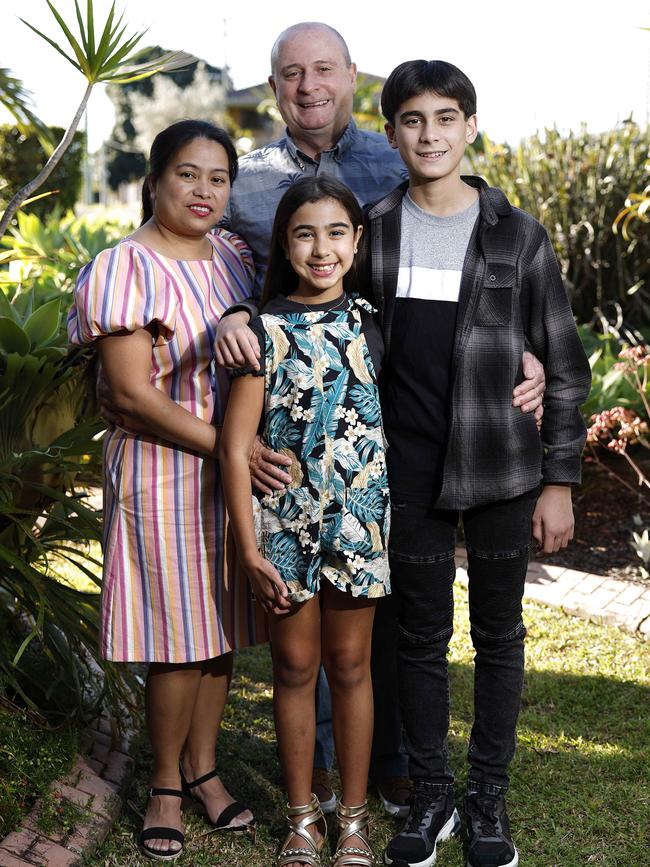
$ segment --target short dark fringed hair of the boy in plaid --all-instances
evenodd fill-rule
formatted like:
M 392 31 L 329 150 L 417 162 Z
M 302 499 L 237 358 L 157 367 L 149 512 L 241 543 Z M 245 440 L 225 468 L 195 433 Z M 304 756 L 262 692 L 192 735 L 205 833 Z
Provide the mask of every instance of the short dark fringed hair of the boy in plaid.
M 469 78 L 445 60 L 407 60 L 386 79 L 381 92 L 381 110 L 390 124 L 400 105 L 423 93 L 437 93 L 455 99 L 465 119 L 476 114 L 476 91 Z

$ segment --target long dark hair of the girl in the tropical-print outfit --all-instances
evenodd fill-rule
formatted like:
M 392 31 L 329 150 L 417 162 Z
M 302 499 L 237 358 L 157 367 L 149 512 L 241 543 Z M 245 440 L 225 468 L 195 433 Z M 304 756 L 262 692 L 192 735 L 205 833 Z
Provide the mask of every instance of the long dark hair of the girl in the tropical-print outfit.
M 298 288 L 298 275 L 291 267 L 286 256 L 287 226 L 289 220 L 307 202 L 320 202 L 321 199 L 335 199 L 347 212 L 352 228 L 363 225 L 363 212 L 356 196 L 349 187 L 329 175 L 303 178 L 292 184 L 280 199 L 273 221 L 273 234 L 269 250 L 268 267 L 261 305 L 267 304 L 277 295 L 291 295 Z M 361 247 L 363 250 L 363 247 Z M 361 252 L 360 250 L 360 252 Z M 343 277 L 346 292 L 359 291 L 359 274 L 363 273 L 360 253 L 354 257 L 352 267 Z

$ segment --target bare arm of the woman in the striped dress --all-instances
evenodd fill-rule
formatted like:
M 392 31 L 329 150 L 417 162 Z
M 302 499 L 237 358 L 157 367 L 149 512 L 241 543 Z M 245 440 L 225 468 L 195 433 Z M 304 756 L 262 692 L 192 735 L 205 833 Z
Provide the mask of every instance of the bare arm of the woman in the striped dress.
M 146 328 L 97 341 L 115 410 L 140 430 L 183 448 L 216 457 L 219 429 L 201 421 L 151 384 L 152 335 Z

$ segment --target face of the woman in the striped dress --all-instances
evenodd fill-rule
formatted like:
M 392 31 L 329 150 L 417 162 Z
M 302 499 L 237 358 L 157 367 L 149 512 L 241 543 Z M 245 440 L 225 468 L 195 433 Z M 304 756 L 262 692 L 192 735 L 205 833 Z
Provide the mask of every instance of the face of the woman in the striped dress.
M 183 237 L 205 235 L 226 208 L 228 171 L 228 155 L 222 145 L 206 138 L 183 145 L 152 186 L 156 221 Z

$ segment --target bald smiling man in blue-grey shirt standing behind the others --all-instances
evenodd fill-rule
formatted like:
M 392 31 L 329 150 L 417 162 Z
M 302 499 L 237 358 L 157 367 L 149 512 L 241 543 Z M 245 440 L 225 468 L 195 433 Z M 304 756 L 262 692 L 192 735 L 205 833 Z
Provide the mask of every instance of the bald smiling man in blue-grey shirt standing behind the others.
M 277 203 L 287 186 L 305 175 L 326 173 L 347 184 L 362 204 L 376 201 L 406 177 L 397 151 L 377 133 L 357 129 L 352 120 L 356 67 L 336 30 L 325 24 L 304 22 L 280 34 L 271 52 L 269 83 L 287 124 L 283 138 L 243 157 L 230 198 L 229 228 L 241 234 L 253 250 L 258 269 L 256 293 L 263 283 L 271 226 Z M 245 327 L 250 312 L 225 317 L 218 328 L 217 359 L 229 367 L 250 363 L 257 367 L 257 338 Z M 541 403 L 543 371 L 527 356 L 525 372 L 533 377 L 514 393 L 514 402 L 526 411 Z M 532 392 L 532 393 L 531 393 Z M 529 402 L 530 401 L 530 402 Z M 291 479 L 278 469 L 283 456 L 258 449 L 253 456 L 258 487 L 267 492 Z M 401 721 L 397 696 L 397 627 L 390 597 L 378 606 L 373 634 L 375 738 L 371 774 L 384 807 L 403 817 L 408 813 L 404 785 L 406 758 L 401 749 Z M 314 789 L 323 806 L 335 807 L 328 770 L 332 758 L 331 729 L 327 718 L 326 684 L 319 684 L 318 727 Z M 328 731 L 329 729 L 329 731 Z M 325 731 L 324 731 L 325 730 Z

